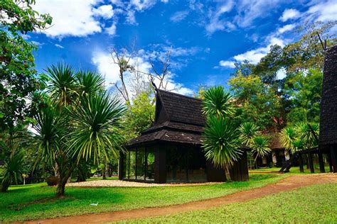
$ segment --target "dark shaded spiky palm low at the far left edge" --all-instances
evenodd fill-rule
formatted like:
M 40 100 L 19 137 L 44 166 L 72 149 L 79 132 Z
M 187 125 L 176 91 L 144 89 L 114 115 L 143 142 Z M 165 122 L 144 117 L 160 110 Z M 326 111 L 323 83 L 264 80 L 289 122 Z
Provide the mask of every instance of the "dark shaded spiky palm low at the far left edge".
M 9 189 L 9 185 L 12 181 L 18 184 L 18 180 L 21 179 L 23 172 L 23 155 L 20 152 L 16 152 L 12 157 L 4 164 L 4 177 L 1 182 L 1 191 L 6 192 Z

